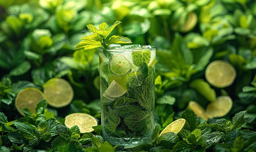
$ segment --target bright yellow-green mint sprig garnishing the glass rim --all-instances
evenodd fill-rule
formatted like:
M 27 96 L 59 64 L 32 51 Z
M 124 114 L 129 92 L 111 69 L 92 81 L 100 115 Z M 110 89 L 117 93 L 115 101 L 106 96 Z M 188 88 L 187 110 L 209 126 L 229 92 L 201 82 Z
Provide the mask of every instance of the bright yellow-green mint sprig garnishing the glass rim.
M 116 21 L 108 28 L 108 24 L 103 22 L 99 25 L 99 29 L 92 24 L 86 25 L 88 30 L 93 32 L 93 34 L 82 37 L 82 41 L 76 45 L 75 49 L 84 48 L 84 50 L 89 50 L 99 47 L 109 48 L 110 44 L 132 43 L 128 37 L 112 35 L 108 38 L 113 29 L 115 29 L 115 27 L 120 23 L 120 21 Z

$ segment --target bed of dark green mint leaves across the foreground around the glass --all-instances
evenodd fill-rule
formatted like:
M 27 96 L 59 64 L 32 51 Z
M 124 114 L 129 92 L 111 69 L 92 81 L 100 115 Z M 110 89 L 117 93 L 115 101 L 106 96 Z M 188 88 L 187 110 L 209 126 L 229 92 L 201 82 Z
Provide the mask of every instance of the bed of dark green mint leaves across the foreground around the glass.
M 129 99 L 123 99 L 119 105 L 127 106 Z M 118 107 L 118 106 L 117 106 Z M 0 112 L 0 145 L 1 151 L 36 152 L 44 149 L 49 152 L 114 152 L 124 150 L 122 147 L 113 147 L 101 137 L 101 126 L 94 127 L 94 134 L 81 134 L 78 126 L 67 128 L 58 119 L 47 118 L 45 99 L 41 100 L 36 113 L 31 113 L 24 108 L 25 117 L 8 121 L 4 113 Z M 155 125 L 153 134 L 147 143 L 130 148 L 128 151 L 161 151 L 161 152 L 205 152 L 216 151 L 255 151 L 256 132 L 244 129 L 245 111 L 238 112 L 232 120 L 217 119 L 215 123 L 200 123 L 193 111 L 187 109 L 182 113 L 182 118 L 189 122 L 190 130 L 181 130 L 178 134 L 173 132 L 162 134 L 159 137 L 161 126 Z M 136 113 L 138 115 L 140 113 Z M 142 114 L 141 114 L 142 115 Z M 134 117 L 132 117 L 134 118 Z M 136 123 L 137 127 L 140 126 Z M 119 130 L 114 131 L 117 134 Z M 98 134 L 98 135 L 95 135 Z

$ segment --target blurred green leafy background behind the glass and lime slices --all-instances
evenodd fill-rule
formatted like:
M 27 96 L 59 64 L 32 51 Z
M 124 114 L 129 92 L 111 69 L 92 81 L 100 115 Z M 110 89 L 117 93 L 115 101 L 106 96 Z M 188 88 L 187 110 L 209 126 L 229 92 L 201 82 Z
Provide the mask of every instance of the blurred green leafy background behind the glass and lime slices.
M 72 84 L 74 100 L 47 110 L 59 120 L 74 112 L 100 120 L 97 49 L 74 48 L 91 34 L 86 24 L 120 20 L 113 35 L 157 48 L 155 122 L 161 128 L 180 118 L 191 100 L 205 108 L 229 95 L 234 104 L 225 118 L 246 110 L 243 127 L 255 131 L 255 8 L 254 0 L 1 0 L 0 111 L 9 121 L 19 119 L 19 90 L 42 89 L 47 80 L 62 77 Z M 205 85 L 205 67 L 217 59 L 236 69 L 227 88 Z M 192 85 L 195 79 L 201 83 Z

